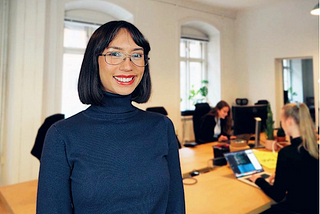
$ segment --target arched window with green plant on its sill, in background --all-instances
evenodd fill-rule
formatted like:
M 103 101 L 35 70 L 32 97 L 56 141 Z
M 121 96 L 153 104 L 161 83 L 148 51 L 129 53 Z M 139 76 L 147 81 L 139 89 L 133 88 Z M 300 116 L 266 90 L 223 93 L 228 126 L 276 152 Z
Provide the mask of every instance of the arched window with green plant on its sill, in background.
M 180 39 L 180 110 L 220 100 L 220 32 L 201 21 L 181 26 Z

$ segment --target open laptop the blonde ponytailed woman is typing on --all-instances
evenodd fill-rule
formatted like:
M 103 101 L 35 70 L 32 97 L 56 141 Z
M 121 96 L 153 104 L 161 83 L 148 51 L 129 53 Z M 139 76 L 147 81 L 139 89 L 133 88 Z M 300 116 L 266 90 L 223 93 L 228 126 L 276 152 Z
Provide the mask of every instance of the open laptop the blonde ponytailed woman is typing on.
M 263 170 L 252 149 L 224 153 L 223 155 L 239 181 L 259 188 L 249 179 L 251 175 L 258 174 L 268 182 L 271 173 Z

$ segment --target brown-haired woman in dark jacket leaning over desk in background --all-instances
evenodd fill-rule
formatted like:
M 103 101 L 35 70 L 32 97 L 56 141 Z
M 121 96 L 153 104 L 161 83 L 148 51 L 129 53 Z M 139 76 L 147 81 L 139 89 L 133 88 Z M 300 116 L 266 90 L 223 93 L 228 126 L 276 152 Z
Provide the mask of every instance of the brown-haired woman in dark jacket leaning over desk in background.
M 199 142 L 208 143 L 214 141 L 227 141 L 234 139 L 231 133 L 230 106 L 221 100 L 207 113 L 200 126 Z

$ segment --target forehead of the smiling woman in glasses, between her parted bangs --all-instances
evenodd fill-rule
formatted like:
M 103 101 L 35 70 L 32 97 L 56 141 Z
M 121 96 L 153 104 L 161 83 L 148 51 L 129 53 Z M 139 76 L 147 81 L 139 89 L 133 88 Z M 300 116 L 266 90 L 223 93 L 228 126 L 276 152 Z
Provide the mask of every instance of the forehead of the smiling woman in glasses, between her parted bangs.
M 120 49 L 136 49 L 139 48 L 131 34 L 127 29 L 120 29 L 114 39 L 110 42 L 108 48 L 120 48 Z M 141 48 L 141 47 L 140 47 Z

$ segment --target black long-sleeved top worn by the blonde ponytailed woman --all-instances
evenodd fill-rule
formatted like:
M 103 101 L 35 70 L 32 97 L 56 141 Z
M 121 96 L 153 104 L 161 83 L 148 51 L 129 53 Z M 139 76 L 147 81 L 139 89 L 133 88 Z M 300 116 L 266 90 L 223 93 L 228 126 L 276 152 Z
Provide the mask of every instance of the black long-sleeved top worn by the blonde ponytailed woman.
M 281 203 L 273 209 L 294 213 L 319 213 L 319 160 L 303 147 L 300 137 L 291 139 L 291 145 L 278 153 L 274 184 L 262 178 L 256 184 L 272 199 Z M 280 213 L 286 213 L 285 211 Z M 277 212 L 277 213 L 278 213 Z

